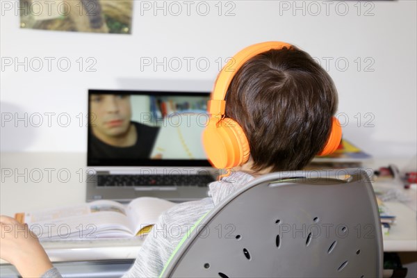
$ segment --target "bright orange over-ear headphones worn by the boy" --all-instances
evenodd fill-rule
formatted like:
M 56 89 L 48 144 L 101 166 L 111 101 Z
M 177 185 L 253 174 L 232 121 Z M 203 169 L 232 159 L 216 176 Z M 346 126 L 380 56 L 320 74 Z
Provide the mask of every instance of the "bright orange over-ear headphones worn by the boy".
M 211 93 L 211 100 L 208 101 L 210 119 L 203 132 L 204 149 L 208 160 L 214 167 L 229 169 L 243 165 L 247 162 L 250 155 L 249 142 L 242 127 L 231 118 L 224 117 L 224 108 L 226 106 L 224 97 L 226 97 L 231 79 L 250 58 L 270 49 L 282 49 L 283 47 L 291 47 L 291 44 L 286 42 L 261 42 L 246 47 L 231 58 L 220 71 Z M 332 131 L 325 147 L 318 155 L 332 154 L 340 144 L 341 138 L 341 124 L 336 117 L 332 117 Z

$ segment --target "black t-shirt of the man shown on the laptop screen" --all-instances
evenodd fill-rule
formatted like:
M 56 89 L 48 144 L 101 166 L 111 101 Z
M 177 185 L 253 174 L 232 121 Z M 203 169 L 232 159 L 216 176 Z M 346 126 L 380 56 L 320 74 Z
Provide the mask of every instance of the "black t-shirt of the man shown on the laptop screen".
M 89 156 L 91 158 L 149 158 L 159 128 L 131 122 L 136 126 L 137 140 L 130 147 L 115 147 L 99 140 L 90 131 Z

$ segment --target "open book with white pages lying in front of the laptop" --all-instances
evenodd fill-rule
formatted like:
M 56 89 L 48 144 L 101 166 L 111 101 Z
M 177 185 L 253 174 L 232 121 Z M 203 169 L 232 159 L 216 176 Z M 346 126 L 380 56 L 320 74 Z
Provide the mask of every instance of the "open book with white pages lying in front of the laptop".
M 139 197 L 124 205 L 99 200 L 77 206 L 16 213 L 40 240 L 127 238 L 148 233 L 159 215 L 175 203 Z

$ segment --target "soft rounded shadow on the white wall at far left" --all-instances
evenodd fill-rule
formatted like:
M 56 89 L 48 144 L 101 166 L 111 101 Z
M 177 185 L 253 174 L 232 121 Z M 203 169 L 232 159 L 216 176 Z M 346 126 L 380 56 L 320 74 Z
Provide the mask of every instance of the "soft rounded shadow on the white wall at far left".
M 22 152 L 28 149 L 37 137 L 39 117 L 7 102 L 0 102 L 0 111 L 0 151 Z

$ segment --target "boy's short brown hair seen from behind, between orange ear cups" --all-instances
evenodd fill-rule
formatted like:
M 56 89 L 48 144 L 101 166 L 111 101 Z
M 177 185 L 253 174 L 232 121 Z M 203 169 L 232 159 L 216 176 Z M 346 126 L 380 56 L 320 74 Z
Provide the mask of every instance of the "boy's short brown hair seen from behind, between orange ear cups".
M 272 49 L 236 72 L 226 95 L 226 117 L 247 136 L 254 170 L 300 170 L 325 145 L 337 91 L 306 52 Z

